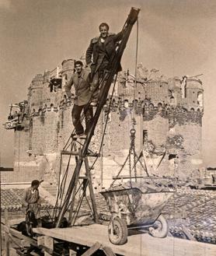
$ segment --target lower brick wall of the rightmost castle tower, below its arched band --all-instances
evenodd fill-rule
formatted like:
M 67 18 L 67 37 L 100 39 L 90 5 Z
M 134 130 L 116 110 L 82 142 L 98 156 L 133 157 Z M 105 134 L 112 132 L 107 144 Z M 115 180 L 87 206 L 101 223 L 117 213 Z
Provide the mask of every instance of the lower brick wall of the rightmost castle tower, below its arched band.
M 202 164 L 200 112 L 172 113 L 169 116 L 168 157 L 175 160 L 177 175 L 193 176 Z M 172 159 L 169 159 L 172 160 Z M 172 162 L 172 161 L 169 161 Z M 169 164 L 169 169 L 172 164 Z

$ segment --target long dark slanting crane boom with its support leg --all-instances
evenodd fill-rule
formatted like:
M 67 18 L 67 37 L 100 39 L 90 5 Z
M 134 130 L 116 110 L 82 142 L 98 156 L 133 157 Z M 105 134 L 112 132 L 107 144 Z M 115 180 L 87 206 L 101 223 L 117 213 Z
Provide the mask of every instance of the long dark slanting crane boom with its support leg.
M 106 103 L 106 97 L 109 93 L 110 90 L 110 86 L 113 82 L 113 78 L 115 75 L 117 75 L 117 72 L 119 70 L 120 67 L 120 59 L 124 53 L 124 49 L 126 47 L 127 44 L 127 40 L 130 36 L 132 27 L 134 25 L 134 23 L 137 21 L 138 19 L 138 13 L 139 13 L 140 9 L 135 9 L 132 8 L 131 12 L 127 18 L 126 23 L 124 24 L 124 28 L 123 28 L 123 37 L 122 40 L 119 44 L 119 46 L 117 47 L 117 50 L 115 52 L 115 54 L 113 54 L 113 57 L 109 63 L 110 65 L 110 70 L 109 72 L 105 72 L 102 78 L 102 81 L 100 82 L 100 95 L 99 95 L 99 103 L 98 103 L 98 107 L 96 107 L 96 113 L 94 114 L 93 117 L 93 121 L 92 121 L 92 126 L 89 129 L 89 133 L 87 135 L 87 138 L 85 139 L 85 142 L 83 144 L 83 147 L 80 151 L 80 154 L 78 155 L 78 160 L 76 163 L 76 167 L 73 173 L 73 176 L 71 178 L 70 184 L 68 186 L 68 191 L 65 195 L 64 198 L 64 203 L 61 207 L 61 211 L 59 212 L 58 216 L 57 216 L 57 223 L 56 223 L 56 227 L 59 227 L 61 225 L 61 220 L 64 217 L 65 212 L 68 209 L 68 206 L 70 205 L 70 211 L 73 212 L 74 211 L 74 206 L 75 206 L 75 194 L 76 194 L 76 188 L 77 188 L 77 184 L 78 184 L 78 178 L 79 178 L 79 174 L 80 174 L 80 170 L 82 167 L 82 163 L 84 162 L 87 153 L 88 153 L 88 148 L 89 148 L 89 143 L 91 142 L 92 139 L 92 135 L 94 134 L 94 130 L 96 128 L 96 124 L 99 120 L 99 115 L 101 113 L 101 111 L 103 110 L 103 106 Z M 86 167 L 86 166 L 85 166 Z M 95 198 L 93 195 L 93 191 L 92 191 L 92 182 L 90 180 L 90 172 L 88 169 L 86 169 L 86 176 L 88 177 L 87 179 L 87 183 L 89 186 L 89 190 L 90 190 L 90 195 L 92 200 L 92 207 L 93 207 L 93 212 L 94 212 L 94 218 L 96 223 L 98 222 L 98 216 L 96 213 L 96 203 L 95 203 Z

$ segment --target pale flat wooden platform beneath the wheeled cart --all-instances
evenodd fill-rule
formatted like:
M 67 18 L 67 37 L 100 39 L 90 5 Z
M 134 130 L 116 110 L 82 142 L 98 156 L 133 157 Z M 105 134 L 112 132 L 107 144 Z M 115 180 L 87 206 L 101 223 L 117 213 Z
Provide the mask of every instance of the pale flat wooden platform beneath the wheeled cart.
M 75 244 L 92 247 L 99 242 L 103 246 L 112 248 L 116 254 L 130 256 L 215 256 L 216 245 L 204 244 L 191 240 L 183 240 L 174 237 L 155 238 L 147 233 L 131 235 L 127 244 L 114 245 L 108 239 L 107 226 L 92 224 L 90 226 L 77 226 L 71 228 L 45 228 L 34 229 L 48 237 L 66 240 Z

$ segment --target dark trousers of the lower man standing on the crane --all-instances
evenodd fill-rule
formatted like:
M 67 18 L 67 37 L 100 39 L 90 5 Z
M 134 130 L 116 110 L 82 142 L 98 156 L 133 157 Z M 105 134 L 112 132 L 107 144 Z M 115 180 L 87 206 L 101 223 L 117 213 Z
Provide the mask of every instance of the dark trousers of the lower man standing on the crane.
M 92 107 L 89 106 L 89 104 L 85 104 L 82 106 L 74 105 L 72 109 L 72 121 L 75 127 L 75 132 L 77 135 L 81 135 L 84 133 L 84 128 L 82 126 L 82 122 L 80 120 L 82 110 L 85 115 L 85 134 L 89 132 L 89 128 L 92 125 L 92 117 L 93 117 L 93 110 Z

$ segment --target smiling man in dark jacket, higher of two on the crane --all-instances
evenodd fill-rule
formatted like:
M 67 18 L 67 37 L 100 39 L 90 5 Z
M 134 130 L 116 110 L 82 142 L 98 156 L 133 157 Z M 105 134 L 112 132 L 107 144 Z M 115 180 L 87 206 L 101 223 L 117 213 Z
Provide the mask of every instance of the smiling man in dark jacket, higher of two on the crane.
M 90 45 L 86 51 L 86 64 L 91 68 L 91 90 L 93 107 L 96 106 L 99 100 L 99 80 L 102 78 L 104 72 L 109 72 L 109 63 L 115 53 L 117 42 L 119 42 L 124 34 L 124 30 L 120 33 L 109 33 L 109 25 L 101 23 L 99 25 L 100 36 L 91 40 Z M 119 67 L 120 71 L 121 68 Z

